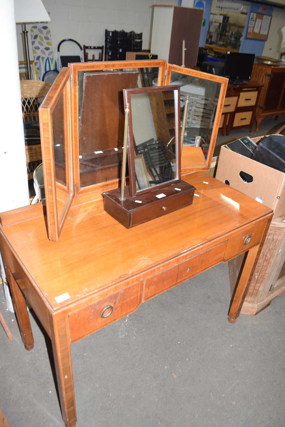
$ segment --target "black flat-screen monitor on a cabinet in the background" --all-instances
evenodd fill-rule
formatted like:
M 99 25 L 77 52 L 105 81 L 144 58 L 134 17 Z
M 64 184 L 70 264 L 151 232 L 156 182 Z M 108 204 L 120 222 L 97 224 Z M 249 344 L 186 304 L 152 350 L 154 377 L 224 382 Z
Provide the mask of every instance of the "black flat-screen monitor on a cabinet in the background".
M 254 54 L 252 53 L 234 53 L 226 54 L 226 61 L 223 75 L 230 80 L 242 82 L 250 80 L 253 69 Z

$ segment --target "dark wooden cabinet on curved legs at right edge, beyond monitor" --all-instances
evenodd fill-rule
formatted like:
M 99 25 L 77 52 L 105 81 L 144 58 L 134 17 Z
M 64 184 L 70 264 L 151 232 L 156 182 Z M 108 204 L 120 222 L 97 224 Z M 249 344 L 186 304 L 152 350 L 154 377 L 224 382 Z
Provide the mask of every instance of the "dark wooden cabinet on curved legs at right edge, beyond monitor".
M 256 108 L 256 132 L 266 116 L 285 114 L 285 67 L 254 64 L 251 78 L 263 85 Z

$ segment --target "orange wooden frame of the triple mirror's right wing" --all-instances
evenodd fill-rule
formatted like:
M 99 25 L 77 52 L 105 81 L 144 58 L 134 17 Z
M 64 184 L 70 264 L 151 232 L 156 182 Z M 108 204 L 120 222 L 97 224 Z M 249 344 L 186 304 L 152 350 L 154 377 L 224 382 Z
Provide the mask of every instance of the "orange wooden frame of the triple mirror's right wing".
M 223 102 L 226 97 L 226 88 L 227 88 L 229 79 L 226 79 L 226 77 L 216 76 L 214 74 L 204 73 L 202 71 L 192 70 L 191 68 L 185 68 L 185 67 L 179 67 L 178 65 L 167 64 L 166 76 L 165 76 L 165 82 L 164 82 L 165 85 L 170 85 L 171 73 L 179 73 L 179 74 L 184 74 L 185 76 L 199 77 L 200 79 L 209 80 L 209 81 L 221 84 L 220 96 L 217 103 L 217 111 L 215 114 L 206 165 L 205 166 L 201 166 L 201 165 L 188 166 L 188 165 L 185 165 L 185 162 L 183 162 L 181 167 L 182 175 L 185 175 L 186 173 L 189 173 L 189 172 L 195 172 L 198 170 L 202 170 L 202 171 L 209 170 L 211 167 L 212 157 L 213 157 L 215 143 L 217 139 L 217 133 L 220 125 L 220 118 L 223 110 Z M 182 160 L 183 160 L 183 149 L 182 149 Z

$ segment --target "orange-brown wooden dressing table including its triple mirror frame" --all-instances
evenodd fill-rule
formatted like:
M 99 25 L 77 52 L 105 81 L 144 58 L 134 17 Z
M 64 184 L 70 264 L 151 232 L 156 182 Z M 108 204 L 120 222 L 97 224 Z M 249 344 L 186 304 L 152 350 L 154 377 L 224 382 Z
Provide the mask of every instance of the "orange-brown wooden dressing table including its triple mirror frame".
M 80 67 L 94 70 L 131 66 L 129 62 L 97 64 L 73 64 L 71 71 L 63 69 L 45 98 L 41 115 L 45 205 L 39 203 L 0 213 L 1 252 L 21 336 L 25 348 L 32 350 L 28 301 L 52 342 L 62 417 L 67 427 L 76 424 L 71 344 L 132 313 L 142 302 L 170 287 L 247 252 L 229 305 L 229 322 L 234 323 L 273 215 L 266 206 L 203 172 L 182 176 L 196 187 L 193 204 L 185 208 L 130 229 L 106 213 L 101 193 L 118 188 L 118 179 L 80 188 L 79 74 L 75 67 L 80 71 Z M 164 84 L 165 61 L 147 64 L 133 61 L 133 64 L 138 68 L 160 67 L 159 82 Z M 187 172 L 207 170 L 223 109 L 226 79 L 171 67 L 176 73 L 194 76 L 195 82 L 214 80 L 220 85 L 214 126 L 209 131 L 212 136 L 207 161 L 201 165 L 203 158 L 197 156 L 198 147 L 193 157 L 197 159 L 196 166 L 182 161 Z M 169 79 L 170 74 L 171 71 Z M 71 103 L 69 116 L 70 93 L 76 102 Z M 63 130 L 59 132 L 58 106 L 62 105 Z M 54 111 L 56 129 L 51 124 Z M 69 120 L 73 123 L 71 134 Z M 62 178 L 60 160 L 64 156 L 60 153 L 56 157 L 56 150 L 64 140 L 66 175 Z M 185 153 L 191 159 L 189 150 Z M 73 162 L 68 164 L 71 158 Z

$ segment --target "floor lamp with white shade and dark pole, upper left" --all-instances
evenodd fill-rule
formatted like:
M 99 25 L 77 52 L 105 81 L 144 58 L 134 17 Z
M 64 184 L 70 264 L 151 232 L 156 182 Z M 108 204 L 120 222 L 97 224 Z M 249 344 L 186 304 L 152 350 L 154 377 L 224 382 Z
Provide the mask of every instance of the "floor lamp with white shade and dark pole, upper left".
M 26 51 L 26 62 L 28 70 L 28 80 L 31 80 L 31 69 L 29 60 L 29 42 L 28 32 L 26 30 L 27 22 L 47 22 L 50 17 L 44 8 L 41 0 L 14 0 L 15 6 L 15 21 L 16 23 L 24 23 L 24 41 Z

